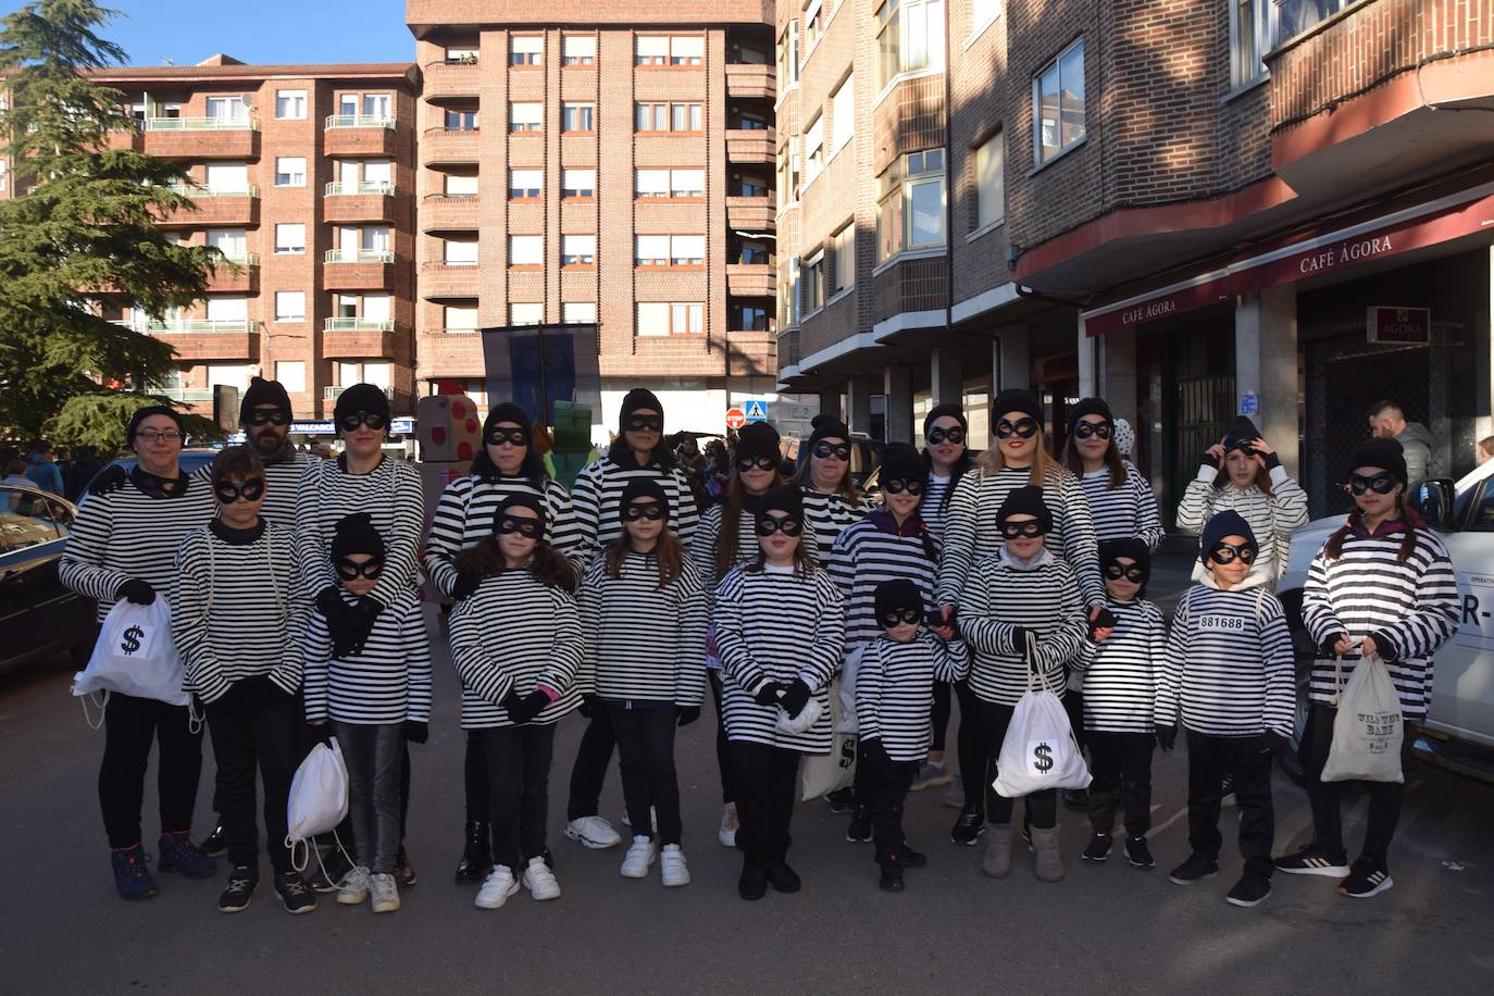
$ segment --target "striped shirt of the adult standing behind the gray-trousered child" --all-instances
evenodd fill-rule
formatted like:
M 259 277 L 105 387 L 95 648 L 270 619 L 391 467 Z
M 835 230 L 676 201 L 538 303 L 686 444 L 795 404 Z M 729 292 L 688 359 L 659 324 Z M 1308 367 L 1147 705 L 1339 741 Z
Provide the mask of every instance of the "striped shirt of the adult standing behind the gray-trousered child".
M 390 606 L 420 582 L 420 530 L 426 497 L 415 464 L 384 455 L 369 473 L 348 473 L 347 457 L 306 466 L 296 490 L 296 554 L 305 597 L 338 582 L 332 538 L 345 515 L 368 512 L 384 538 L 384 572 L 371 593 Z

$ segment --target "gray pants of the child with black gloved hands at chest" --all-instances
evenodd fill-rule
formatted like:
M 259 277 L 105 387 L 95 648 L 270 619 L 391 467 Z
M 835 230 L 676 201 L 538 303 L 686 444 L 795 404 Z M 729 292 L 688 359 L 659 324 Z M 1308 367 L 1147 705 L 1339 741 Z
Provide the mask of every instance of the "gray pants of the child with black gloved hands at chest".
M 399 762 L 405 724 L 354 726 L 333 720 L 348 766 L 348 815 L 359 865 L 393 875 L 399 857 Z

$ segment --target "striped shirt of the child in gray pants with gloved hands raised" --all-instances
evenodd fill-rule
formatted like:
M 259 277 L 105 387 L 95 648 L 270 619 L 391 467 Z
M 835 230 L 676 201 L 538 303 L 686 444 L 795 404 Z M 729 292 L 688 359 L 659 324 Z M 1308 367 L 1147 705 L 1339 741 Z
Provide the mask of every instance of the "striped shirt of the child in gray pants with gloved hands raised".
M 357 599 L 344 590 L 348 605 Z M 430 642 L 420 593 L 400 591 L 379 612 L 363 650 L 332 656 L 327 620 L 312 611 L 306 627 L 306 718 L 353 726 L 430 721 Z

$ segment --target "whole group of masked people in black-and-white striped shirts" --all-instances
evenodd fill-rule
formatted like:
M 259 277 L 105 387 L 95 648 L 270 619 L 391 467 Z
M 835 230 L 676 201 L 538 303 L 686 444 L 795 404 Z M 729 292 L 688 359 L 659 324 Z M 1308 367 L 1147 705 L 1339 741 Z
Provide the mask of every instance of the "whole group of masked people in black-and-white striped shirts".
M 976 457 L 958 406 L 934 408 L 922 452 L 890 443 L 880 500 L 850 472 L 852 435 L 814 420 L 786 479 L 781 441 L 744 427 L 723 500 L 695 506 L 663 436 L 663 406 L 630 391 L 620 433 L 568 494 L 550 479 L 527 414 L 495 405 L 469 475 L 447 485 L 429 533 L 409 464 L 382 454 L 388 405 L 356 385 L 338 399 L 345 452 L 308 461 L 287 443 L 290 399 L 251 385 L 248 443 L 184 476 L 181 423 L 148 408 L 128 426 L 139 463 L 108 473 L 81 509 L 61 576 L 99 602 L 170 596 L 187 690 L 202 705 L 218 768 L 212 841 L 233 866 L 220 909 L 258 887 L 255 772 L 275 891 L 291 912 L 317 891 L 399 908 L 414 884 L 403 847 L 408 744 L 430 717 L 423 566 L 450 597 L 450 650 L 466 735 L 466 841 L 459 881 L 475 905 L 527 888 L 560 896 L 547 838 L 556 723 L 586 730 L 571 771 L 565 835 L 592 848 L 622 838 L 599 814 L 614 748 L 632 832 L 620 872 L 690 881 L 683 851 L 677 730 L 710 688 L 723 811 L 717 836 L 743 857 L 738 894 L 801 888 L 789 865 L 801 759 L 855 730 L 855 782 L 832 794 L 847 839 L 872 842 L 880 885 L 920 868 L 902 830 L 914 787 L 955 782 L 955 844 L 985 838 L 983 874 L 1011 869 L 1013 799 L 994 790 L 1007 729 L 1032 687 L 1062 696 L 1089 754 L 1092 836 L 1082 857 L 1123 851 L 1149 869 L 1153 748 L 1186 732 L 1189 856 L 1177 884 L 1213 877 L 1221 805 L 1240 809 L 1245 868 L 1231 903 L 1253 906 L 1274 871 L 1333 875 L 1340 891 L 1389 887 L 1386 851 L 1401 787 L 1371 788 L 1370 826 L 1348 862 L 1336 785 L 1318 774 L 1331 742 L 1336 681 L 1383 659 L 1407 721 L 1424 717 L 1431 654 L 1457 626 L 1446 550 L 1407 505 L 1404 457 L 1371 441 L 1351 458 L 1355 511 L 1313 561 L 1304 621 L 1322 657 L 1303 756 L 1315 835 L 1273 860 L 1271 753 L 1292 733 L 1291 636 L 1271 594 L 1306 502 L 1249 420 L 1203 457 L 1179 509 L 1201 535 L 1195 584 L 1171 626 L 1146 600 L 1164 530 L 1150 485 L 1125 458 L 1109 406 L 1070 409 L 1061 458 L 1029 391 L 1001 391 L 994 445 Z M 293 500 L 285 496 L 293 494 Z M 832 702 L 834 696 L 834 702 Z M 950 699 L 956 760 L 946 760 Z M 100 805 L 121 896 L 154 894 L 140 838 L 142 779 L 160 747 L 158 871 L 215 874 L 212 842 L 190 838 L 202 765 L 196 711 L 112 696 Z M 336 733 L 350 776 L 351 862 L 333 851 L 308 884 L 285 847 L 290 779 L 311 744 Z M 1407 738 L 1407 744 L 1410 738 Z M 958 769 L 955 779 L 952 769 Z M 1023 797 L 1022 835 L 1041 881 L 1064 877 L 1058 793 Z

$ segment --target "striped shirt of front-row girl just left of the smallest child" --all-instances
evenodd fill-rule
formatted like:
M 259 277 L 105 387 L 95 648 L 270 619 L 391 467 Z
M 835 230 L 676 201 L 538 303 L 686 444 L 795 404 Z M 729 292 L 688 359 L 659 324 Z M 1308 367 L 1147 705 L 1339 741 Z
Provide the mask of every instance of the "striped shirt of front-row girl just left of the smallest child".
M 846 617 L 825 570 L 737 567 L 716 588 L 716 642 L 722 651 L 722 717 L 726 739 L 807 754 L 831 750 L 826 685 L 841 663 Z M 780 733 L 778 706 L 753 700 L 765 682 L 795 678 L 823 714 L 804 733 Z

